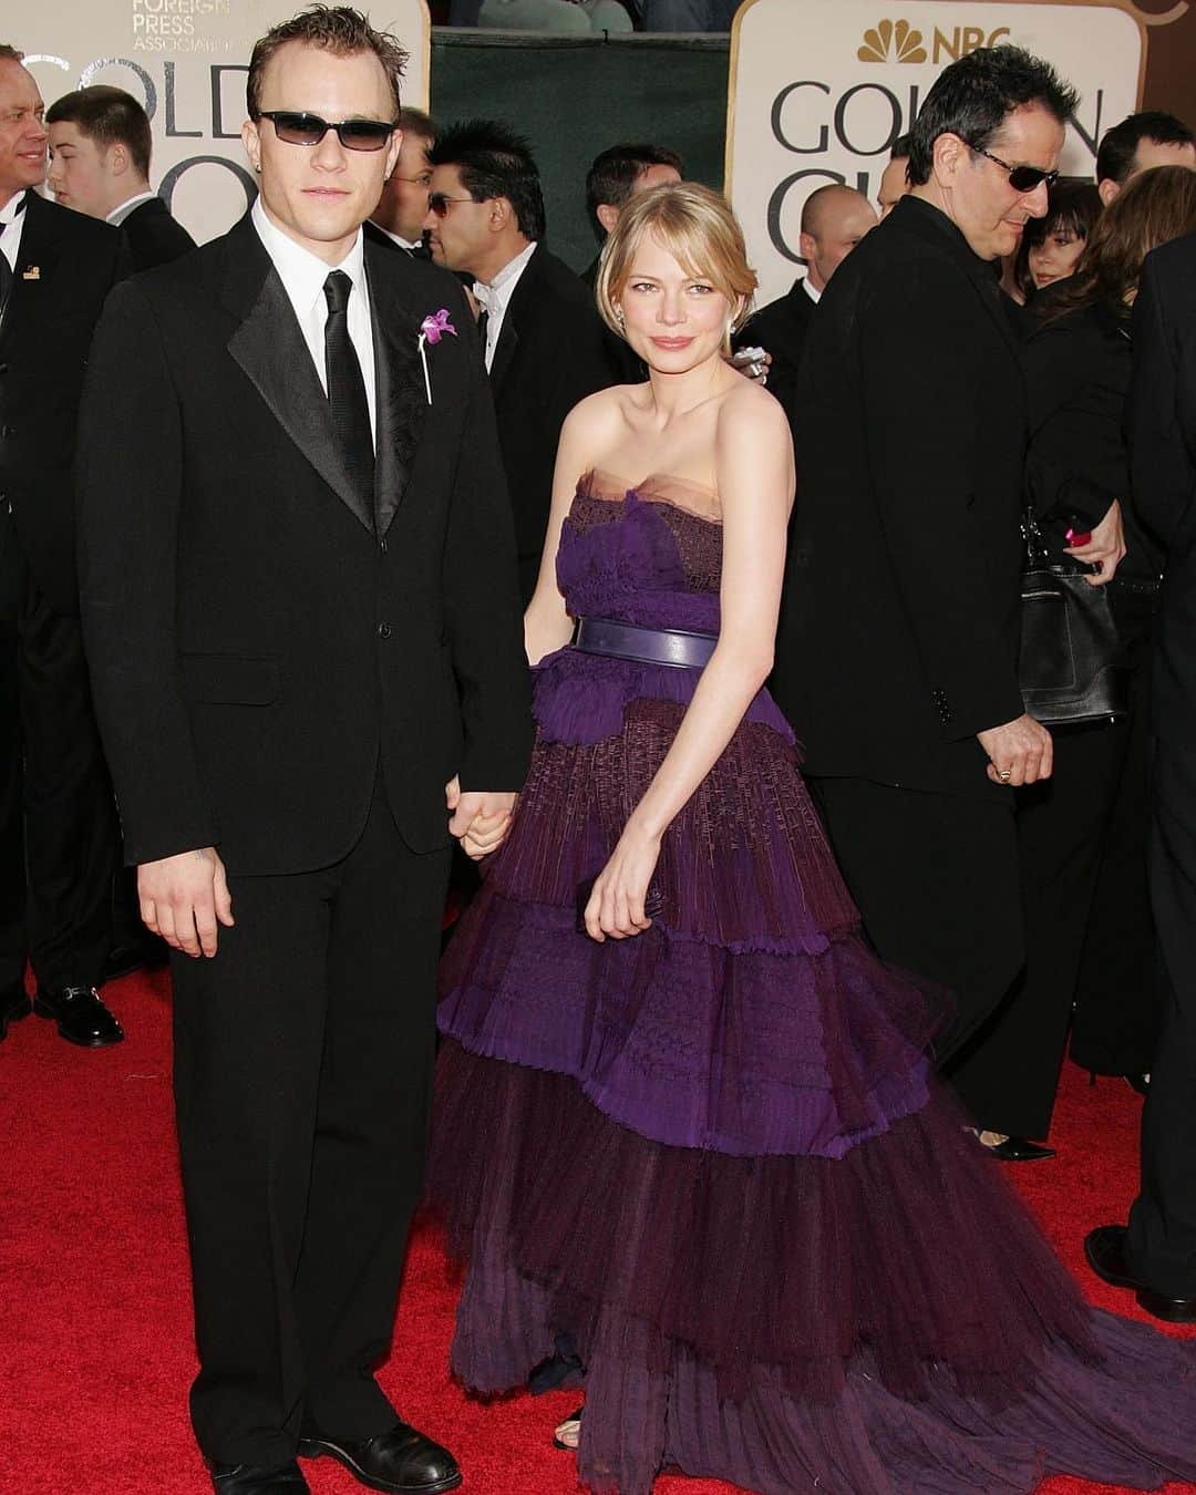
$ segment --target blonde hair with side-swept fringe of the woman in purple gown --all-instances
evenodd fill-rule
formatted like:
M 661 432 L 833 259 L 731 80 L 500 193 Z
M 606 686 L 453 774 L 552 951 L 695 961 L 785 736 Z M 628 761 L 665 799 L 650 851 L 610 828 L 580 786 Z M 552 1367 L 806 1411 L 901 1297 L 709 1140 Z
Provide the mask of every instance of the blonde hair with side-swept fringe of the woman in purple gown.
M 649 233 L 656 236 L 686 275 L 709 280 L 734 308 L 724 348 L 730 353 L 731 330 L 750 311 L 756 275 L 748 263 L 743 230 L 727 199 L 698 182 L 652 187 L 634 196 L 619 214 L 602 248 L 595 284 L 602 321 L 620 338 L 626 336 L 619 315 L 619 298 L 631 280 L 635 250 Z

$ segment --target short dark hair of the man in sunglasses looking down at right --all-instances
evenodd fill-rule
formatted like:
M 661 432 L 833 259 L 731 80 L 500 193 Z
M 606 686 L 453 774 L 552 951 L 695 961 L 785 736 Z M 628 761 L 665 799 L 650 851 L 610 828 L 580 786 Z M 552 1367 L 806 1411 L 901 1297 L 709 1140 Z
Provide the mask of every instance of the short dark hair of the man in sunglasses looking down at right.
M 940 135 L 958 135 L 973 150 L 987 150 L 1014 109 L 1032 103 L 1064 124 L 1079 94 L 1049 63 L 1021 46 L 978 46 L 961 57 L 934 79 L 909 132 L 910 182 L 921 187 L 930 181 Z

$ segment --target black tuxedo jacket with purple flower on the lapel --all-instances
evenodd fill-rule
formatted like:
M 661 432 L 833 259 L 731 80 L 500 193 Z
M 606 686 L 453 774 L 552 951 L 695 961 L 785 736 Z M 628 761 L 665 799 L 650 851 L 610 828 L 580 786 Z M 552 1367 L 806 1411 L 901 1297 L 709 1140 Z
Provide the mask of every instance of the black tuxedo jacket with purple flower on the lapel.
M 372 505 L 251 220 L 109 299 L 81 419 L 84 638 L 142 863 L 327 866 L 378 764 L 404 839 L 447 843 L 444 785 L 517 789 L 531 746 L 514 543 L 460 287 L 365 247 Z M 420 321 L 457 335 L 417 354 Z M 484 558 L 480 564 L 478 558 Z

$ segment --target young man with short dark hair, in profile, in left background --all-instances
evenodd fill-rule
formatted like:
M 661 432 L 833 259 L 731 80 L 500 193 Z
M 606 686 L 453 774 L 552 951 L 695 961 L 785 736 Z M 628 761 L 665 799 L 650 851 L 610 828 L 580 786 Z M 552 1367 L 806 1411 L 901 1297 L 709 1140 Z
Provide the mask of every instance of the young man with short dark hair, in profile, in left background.
M 57 202 L 124 230 L 133 269 L 166 265 L 196 247 L 150 187 L 150 120 L 123 88 L 93 84 L 46 111 L 49 173 Z

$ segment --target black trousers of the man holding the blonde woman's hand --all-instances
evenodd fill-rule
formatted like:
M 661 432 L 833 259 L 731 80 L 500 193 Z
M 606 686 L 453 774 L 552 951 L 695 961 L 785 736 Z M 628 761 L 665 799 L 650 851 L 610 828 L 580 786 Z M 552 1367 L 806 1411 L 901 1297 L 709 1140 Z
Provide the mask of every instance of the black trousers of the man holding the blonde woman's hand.
M 230 876 L 215 957 L 172 955 L 191 1420 L 211 1459 L 277 1465 L 300 1431 L 395 1423 L 372 1371 L 422 1189 L 447 876 L 447 848 L 404 843 L 380 774 L 348 855 Z

